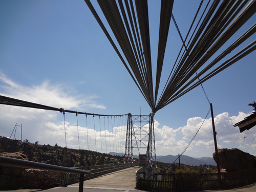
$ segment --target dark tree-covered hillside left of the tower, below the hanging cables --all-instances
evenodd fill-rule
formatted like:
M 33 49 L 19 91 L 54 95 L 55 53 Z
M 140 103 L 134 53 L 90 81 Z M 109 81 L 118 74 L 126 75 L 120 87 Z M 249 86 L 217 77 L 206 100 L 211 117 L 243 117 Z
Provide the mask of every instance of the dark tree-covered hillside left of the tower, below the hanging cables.
M 29 161 L 66 166 L 62 163 L 63 156 L 65 152 L 70 152 L 71 163 L 68 164 L 69 167 L 118 163 L 116 159 L 119 156 L 102 154 L 90 150 L 77 150 L 74 148 L 61 147 L 58 146 L 57 143 L 54 146 L 51 146 L 50 144 L 40 145 L 38 143 L 38 141 L 30 143 L 27 139 L 21 142 L 0 136 L 0 153 L 20 152 L 25 154 Z

